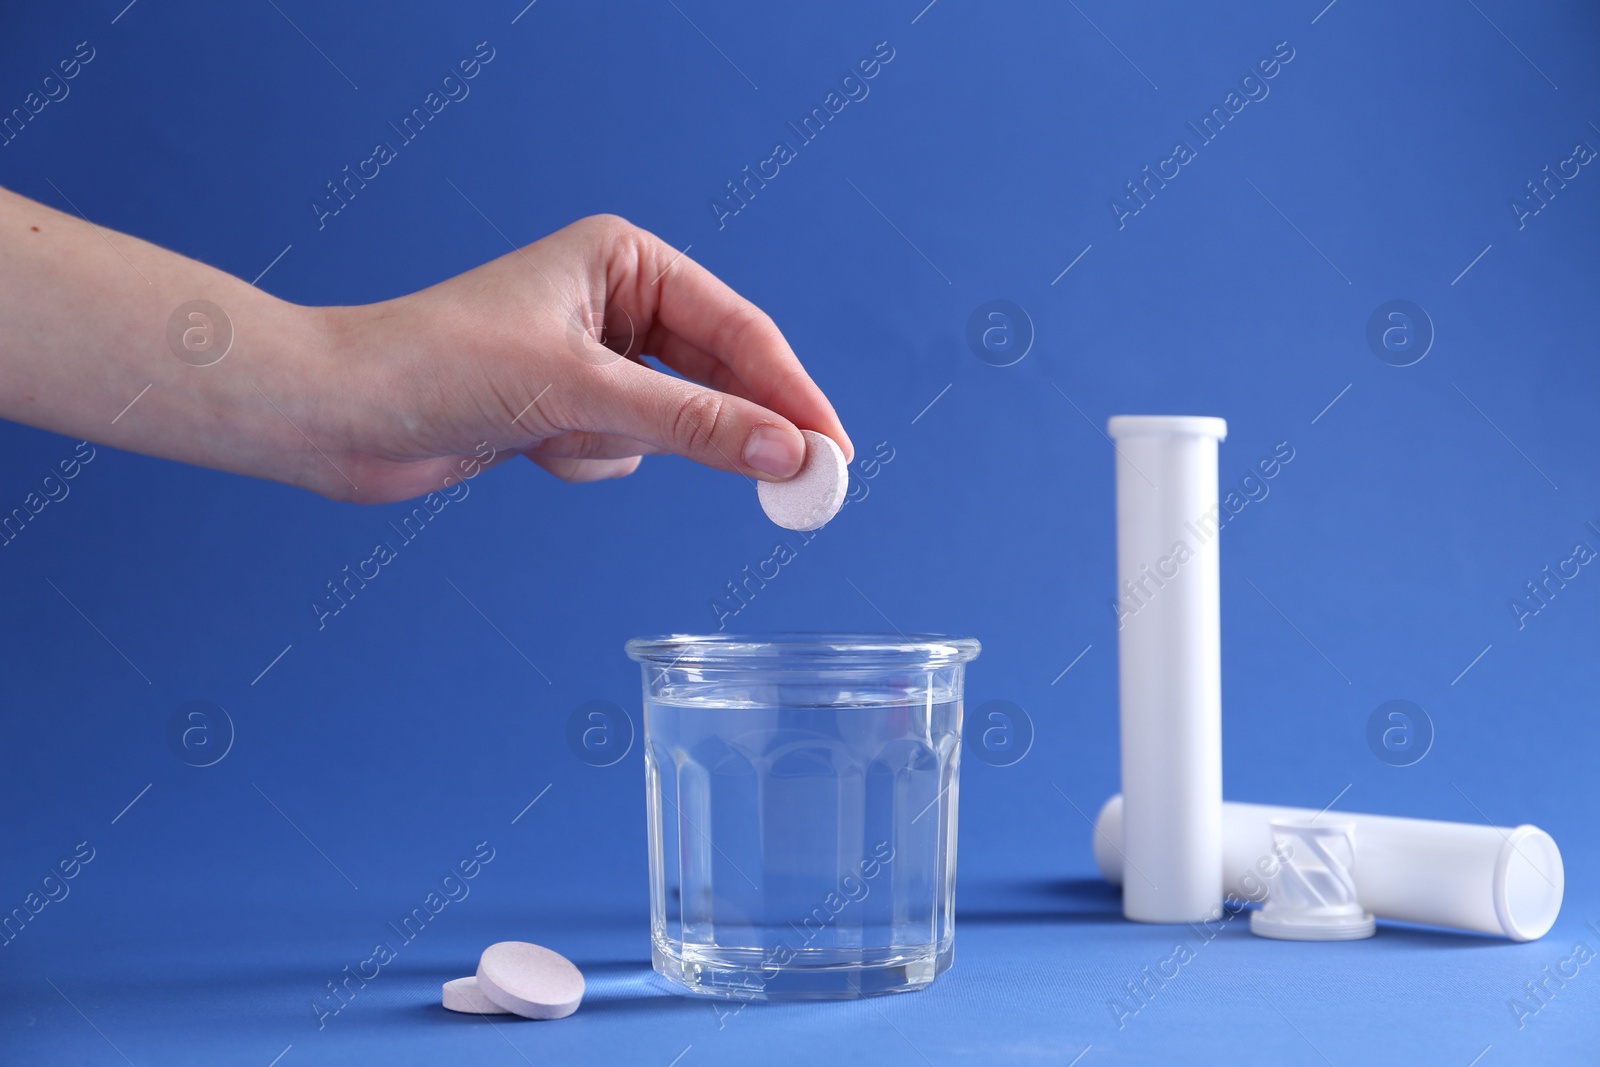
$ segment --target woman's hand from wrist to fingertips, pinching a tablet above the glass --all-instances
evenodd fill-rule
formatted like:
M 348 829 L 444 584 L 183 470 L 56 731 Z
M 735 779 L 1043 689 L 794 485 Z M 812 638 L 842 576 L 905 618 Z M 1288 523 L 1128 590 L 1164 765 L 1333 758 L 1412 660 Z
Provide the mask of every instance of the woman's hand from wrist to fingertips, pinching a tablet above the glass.
M 360 499 L 437 490 L 485 443 L 568 482 L 621 477 L 654 453 L 784 480 L 805 458 L 797 427 L 853 451 L 771 318 L 614 216 L 325 314 L 347 421 L 323 448 L 347 458 Z

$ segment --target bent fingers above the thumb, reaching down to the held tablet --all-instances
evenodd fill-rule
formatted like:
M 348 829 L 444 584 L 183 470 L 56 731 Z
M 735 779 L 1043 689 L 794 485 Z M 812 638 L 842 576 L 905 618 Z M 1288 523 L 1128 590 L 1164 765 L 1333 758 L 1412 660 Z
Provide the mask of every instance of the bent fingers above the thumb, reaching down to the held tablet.
M 602 226 L 610 227 L 610 301 L 635 322 L 651 323 L 646 352 L 682 374 L 768 408 L 786 429 L 827 434 L 846 458 L 854 454 L 834 405 L 765 312 L 661 238 L 619 219 Z

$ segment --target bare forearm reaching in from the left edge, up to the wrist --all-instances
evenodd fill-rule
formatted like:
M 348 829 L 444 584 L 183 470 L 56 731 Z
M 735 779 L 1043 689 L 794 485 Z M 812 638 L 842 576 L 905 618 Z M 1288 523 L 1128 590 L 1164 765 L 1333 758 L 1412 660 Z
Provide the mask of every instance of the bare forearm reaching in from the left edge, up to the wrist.
M 195 299 L 226 323 L 181 317 L 174 350 L 168 320 Z M 0 318 L 6 419 L 358 496 L 317 451 L 336 451 L 330 312 L 0 190 Z

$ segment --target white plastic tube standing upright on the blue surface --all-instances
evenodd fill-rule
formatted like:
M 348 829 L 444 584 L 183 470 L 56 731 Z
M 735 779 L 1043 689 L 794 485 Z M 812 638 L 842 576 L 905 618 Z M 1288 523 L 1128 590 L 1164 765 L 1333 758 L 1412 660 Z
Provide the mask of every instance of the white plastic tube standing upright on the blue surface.
M 1122 913 L 1213 918 L 1222 902 L 1222 641 L 1208 416 L 1118 414 Z

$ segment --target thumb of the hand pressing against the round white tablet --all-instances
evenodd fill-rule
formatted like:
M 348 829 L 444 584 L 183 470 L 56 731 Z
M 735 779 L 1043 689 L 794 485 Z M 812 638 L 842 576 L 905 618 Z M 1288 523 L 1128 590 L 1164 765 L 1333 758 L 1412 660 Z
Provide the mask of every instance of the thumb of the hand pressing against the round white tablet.
M 606 381 L 594 405 L 597 426 L 694 462 L 747 478 L 786 482 L 805 461 L 794 422 L 758 403 L 662 374 L 632 360 L 597 368 Z

